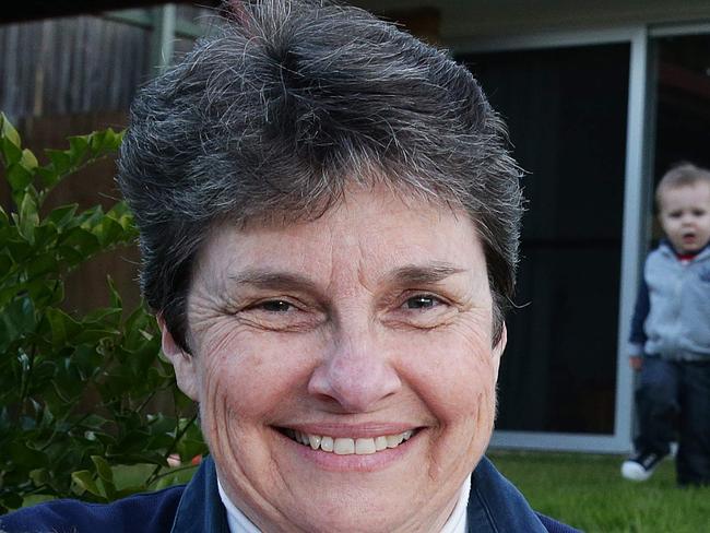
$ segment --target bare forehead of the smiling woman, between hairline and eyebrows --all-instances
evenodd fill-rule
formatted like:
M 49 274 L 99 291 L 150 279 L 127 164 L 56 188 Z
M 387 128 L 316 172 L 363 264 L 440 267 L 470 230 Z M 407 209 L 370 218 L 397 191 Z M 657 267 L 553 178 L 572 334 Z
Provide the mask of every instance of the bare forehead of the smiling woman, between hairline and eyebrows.
M 316 220 L 261 222 L 215 228 L 201 254 L 203 265 L 235 276 L 255 270 L 352 272 L 356 263 L 378 277 L 425 265 L 470 270 L 483 263 L 485 270 L 465 213 L 425 200 L 403 201 L 387 190 L 350 192 Z

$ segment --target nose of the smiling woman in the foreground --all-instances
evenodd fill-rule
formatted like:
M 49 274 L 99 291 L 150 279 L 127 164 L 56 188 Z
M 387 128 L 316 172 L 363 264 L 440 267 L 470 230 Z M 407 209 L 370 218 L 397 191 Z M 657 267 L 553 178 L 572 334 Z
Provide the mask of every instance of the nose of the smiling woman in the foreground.
M 402 382 L 370 329 L 336 334 L 330 353 L 313 370 L 308 392 L 336 402 L 346 413 L 367 413 L 398 392 Z

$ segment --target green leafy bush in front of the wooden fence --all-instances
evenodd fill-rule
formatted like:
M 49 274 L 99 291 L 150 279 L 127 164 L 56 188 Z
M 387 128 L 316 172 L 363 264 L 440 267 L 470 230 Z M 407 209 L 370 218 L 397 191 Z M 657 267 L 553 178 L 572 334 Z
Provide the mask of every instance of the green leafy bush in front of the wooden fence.
M 46 214 L 43 204 L 120 142 L 110 129 L 73 137 L 39 165 L 0 114 L 14 203 L 10 212 L 0 206 L 0 512 L 37 497 L 108 501 L 155 488 L 175 481 L 171 453 L 189 461 L 205 451 L 143 306 L 125 312 L 109 279 L 108 307 L 61 308 L 67 273 L 133 242 L 137 230 L 123 202 L 107 212 L 66 205 Z M 169 415 L 153 412 L 156 395 Z

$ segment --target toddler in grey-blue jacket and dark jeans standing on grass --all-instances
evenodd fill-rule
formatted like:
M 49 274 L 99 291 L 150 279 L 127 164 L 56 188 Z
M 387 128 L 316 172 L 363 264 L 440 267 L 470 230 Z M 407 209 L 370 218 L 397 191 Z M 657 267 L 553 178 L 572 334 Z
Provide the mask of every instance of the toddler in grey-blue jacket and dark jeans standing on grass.
M 678 439 L 681 486 L 710 484 L 710 170 L 667 171 L 655 200 L 665 238 L 646 260 L 629 355 L 640 372 L 637 453 L 622 465 L 648 479 Z

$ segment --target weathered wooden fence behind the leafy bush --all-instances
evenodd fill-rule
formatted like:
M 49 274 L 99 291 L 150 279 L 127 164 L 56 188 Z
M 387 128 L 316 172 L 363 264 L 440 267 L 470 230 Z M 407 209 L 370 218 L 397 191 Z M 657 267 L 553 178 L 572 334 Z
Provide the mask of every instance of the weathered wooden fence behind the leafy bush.
M 177 8 L 178 20 L 191 24 L 192 33 L 212 24 L 209 13 L 191 5 Z M 135 91 L 157 71 L 151 16 L 150 11 L 133 10 L 0 25 L 0 111 L 40 159 L 44 149 L 66 147 L 69 135 L 126 127 Z M 178 32 L 170 45 L 179 55 L 191 48 L 192 39 Z M 113 161 L 83 170 L 52 191 L 48 206 L 98 203 L 108 209 L 120 196 L 115 174 Z M 13 209 L 4 179 L 0 204 Z M 135 247 L 95 258 L 70 275 L 66 307 L 106 305 L 107 274 L 117 282 L 125 304 L 135 305 L 138 260 Z

